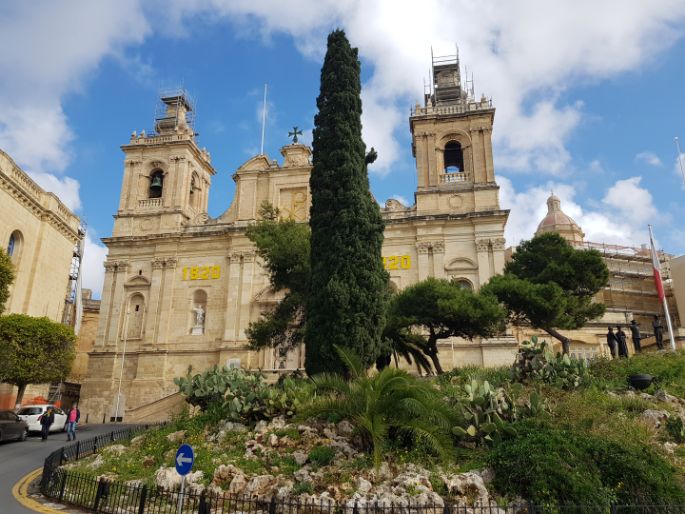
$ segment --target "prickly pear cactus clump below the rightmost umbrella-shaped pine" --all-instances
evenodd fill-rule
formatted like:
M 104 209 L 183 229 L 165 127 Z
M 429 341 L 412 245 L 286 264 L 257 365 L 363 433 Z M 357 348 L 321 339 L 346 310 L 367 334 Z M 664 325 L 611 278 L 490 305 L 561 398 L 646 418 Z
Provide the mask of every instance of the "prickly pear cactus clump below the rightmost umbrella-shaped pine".
M 543 382 L 571 390 L 587 384 L 590 372 L 585 360 L 567 354 L 554 355 L 545 341 L 538 342 L 537 336 L 533 336 L 521 343 L 511 377 L 516 382 Z

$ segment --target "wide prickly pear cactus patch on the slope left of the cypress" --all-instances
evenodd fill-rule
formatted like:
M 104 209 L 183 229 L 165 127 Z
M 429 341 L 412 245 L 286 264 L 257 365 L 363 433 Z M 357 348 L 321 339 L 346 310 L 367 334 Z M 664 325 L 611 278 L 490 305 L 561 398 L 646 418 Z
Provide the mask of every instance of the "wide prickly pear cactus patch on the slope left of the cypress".
M 271 386 L 259 373 L 217 366 L 196 375 L 189 369 L 174 382 L 191 405 L 214 417 L 244 422 L 292 416 L 308 394 L 294 379 L 285 380 L 281 387 Z

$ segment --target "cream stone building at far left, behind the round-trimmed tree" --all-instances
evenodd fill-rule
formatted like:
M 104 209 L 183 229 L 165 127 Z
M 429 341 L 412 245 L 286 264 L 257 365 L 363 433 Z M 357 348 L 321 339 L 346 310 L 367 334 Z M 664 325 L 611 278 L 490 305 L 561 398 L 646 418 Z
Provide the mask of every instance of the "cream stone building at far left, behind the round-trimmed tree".
M 0 242 L 15 279 L 5 313 L 45 316 L 78 330 L 80 268 L 85 230 L 79 218 L 0 150 Z M 47 399 L 49 385 L 34 385 L 26 398 Z M 15 391 L 0 385 L 0 408 L 14 406 Z

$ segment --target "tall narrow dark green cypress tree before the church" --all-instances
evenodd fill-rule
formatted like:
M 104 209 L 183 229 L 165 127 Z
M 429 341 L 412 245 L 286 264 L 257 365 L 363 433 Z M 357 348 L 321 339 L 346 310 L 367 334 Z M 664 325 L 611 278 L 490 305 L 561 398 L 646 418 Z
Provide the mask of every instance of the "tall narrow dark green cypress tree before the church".
M 345 33 L 328 36 L 314 118 L 310 178 L 311 282 L 305 368 L 310 375 L 346 373 L 334 346 L 348 347 L 370 366 L 380 353 L 388 300 L 383 269 L 383 220 L 369 190 L 361 130 L 357 49 Z

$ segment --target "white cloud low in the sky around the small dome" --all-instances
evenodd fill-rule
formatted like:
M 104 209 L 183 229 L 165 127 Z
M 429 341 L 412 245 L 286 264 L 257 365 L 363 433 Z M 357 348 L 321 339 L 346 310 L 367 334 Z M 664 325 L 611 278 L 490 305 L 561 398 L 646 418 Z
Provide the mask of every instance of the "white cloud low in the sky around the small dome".
M 648 223 L 667 221 L 659 214 L 649 191 L 640 187 L 640 180 L 618 180 L 593 210 L 583 209 L 576 202 L 577 191 L 572 185 L 548 182 L 545 186 L 516 191 L 511 180 L 499 177 L 500 203 L 511 209 L 505 232 L 507 244 L 517 245 L 533 236 L 547 214 L 546 201 L 553 190 L 561 200 L 562 210 L 585 233 L 586 241 L 639 246 L 649 240 Z

